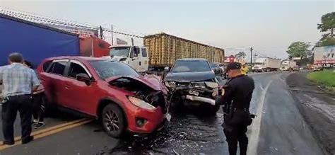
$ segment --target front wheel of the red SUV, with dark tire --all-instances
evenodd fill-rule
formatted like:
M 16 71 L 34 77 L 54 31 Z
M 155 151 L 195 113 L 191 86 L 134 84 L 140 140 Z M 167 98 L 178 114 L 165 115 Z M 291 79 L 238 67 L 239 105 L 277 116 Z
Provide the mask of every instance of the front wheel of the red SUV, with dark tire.
M 102 127 L 110 137 L 122 137 L 126 131 L 126 119 L 122 109 L 118 105 L 112 103 L 106 105 L 101 113 L 101 121 Z

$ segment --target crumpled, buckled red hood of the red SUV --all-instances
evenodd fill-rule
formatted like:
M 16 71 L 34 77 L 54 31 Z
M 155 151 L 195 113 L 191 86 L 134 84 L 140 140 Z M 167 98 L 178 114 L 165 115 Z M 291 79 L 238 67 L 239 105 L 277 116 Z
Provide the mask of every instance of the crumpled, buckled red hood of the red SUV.
M 150 88 L 153 88 L 155 91 L 163 91 L 163 84 L 160 83 L 160 79 L 155 75 L 145 75 L 145 76 L 113 76 L 109 79 L 106 79 L 108 83 L 117 79 L 134 79 L 136 81 L 140 81 L 143 84 L 146 84 Z

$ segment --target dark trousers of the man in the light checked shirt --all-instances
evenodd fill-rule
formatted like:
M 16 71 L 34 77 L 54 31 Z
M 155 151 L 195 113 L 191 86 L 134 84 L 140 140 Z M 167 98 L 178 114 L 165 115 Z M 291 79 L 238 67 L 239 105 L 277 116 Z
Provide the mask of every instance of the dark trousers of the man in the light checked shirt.
M 31 115 L 33 103 L 30 95 L 9 96 L 8 101 L 2 103 L 2 132 L 4 142 L 14 142 L 13 124 L 16 120 L 16 113 L 20 113 L 21 120 L 21 138 L 23 141 L 30 138 L 31 133 Z

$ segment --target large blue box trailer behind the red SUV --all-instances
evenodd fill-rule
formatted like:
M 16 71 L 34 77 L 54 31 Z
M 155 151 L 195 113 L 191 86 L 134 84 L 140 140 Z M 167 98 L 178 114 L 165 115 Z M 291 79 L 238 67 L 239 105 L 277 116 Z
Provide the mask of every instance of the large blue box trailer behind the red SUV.
M 48 57 L 78 55 L 79 38 L 74 33 L 0 13 L 0 66 L 8 64 L 12 52 L 23 54 L 37 67 Z

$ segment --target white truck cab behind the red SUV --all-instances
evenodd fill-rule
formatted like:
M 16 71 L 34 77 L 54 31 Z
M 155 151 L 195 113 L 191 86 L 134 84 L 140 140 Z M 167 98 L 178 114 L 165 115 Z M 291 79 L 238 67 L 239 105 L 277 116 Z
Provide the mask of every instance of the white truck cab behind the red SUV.
M 124 62 L 136 71 L 148 71 L 149 59 L 146 47 L 117 45 L 110 47 L 109 57 L 113 61 Z

